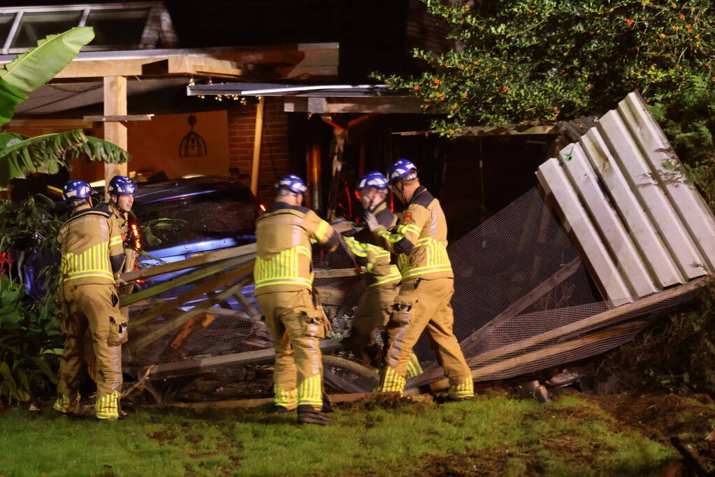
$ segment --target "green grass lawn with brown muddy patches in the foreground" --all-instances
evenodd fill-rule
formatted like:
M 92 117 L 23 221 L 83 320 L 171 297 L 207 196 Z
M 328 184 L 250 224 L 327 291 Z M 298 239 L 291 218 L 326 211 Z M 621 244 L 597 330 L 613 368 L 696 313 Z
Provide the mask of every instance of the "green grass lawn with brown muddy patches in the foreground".
M 442 406 L 361 402 L 331 416 L 331 426 L 298 426 L 260 410 L 144 407 L 96 422 L 11 408 L 0 412 L 0 476 L 657 475 L 679 458 L 667 438 L 701 441 L 715 405 L 492 392 Z

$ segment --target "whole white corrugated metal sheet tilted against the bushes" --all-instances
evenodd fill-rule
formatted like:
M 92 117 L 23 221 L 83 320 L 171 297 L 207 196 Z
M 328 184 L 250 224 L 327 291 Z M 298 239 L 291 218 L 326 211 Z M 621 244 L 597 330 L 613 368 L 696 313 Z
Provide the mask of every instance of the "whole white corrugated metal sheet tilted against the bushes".
M 559 159 L 537 176 L 605 298 L 640 298 L 715 269 L 715 218 L 637 93 Z

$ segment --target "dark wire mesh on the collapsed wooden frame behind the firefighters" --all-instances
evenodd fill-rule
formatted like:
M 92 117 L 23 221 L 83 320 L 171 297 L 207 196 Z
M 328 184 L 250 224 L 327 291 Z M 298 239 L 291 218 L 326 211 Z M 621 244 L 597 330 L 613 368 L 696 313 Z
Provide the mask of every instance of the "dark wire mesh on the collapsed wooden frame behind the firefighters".
M 536 189 L 450 244 L 448 252 L 455 273 L 454 332 L 480 380 L 518 376 L 607 351 L 644 326 L 624 321 L 689 298 L 679 294 L 609 318 L 613 304 L 602 300 L 577 249 Z M 349 273 L 320 271 L 354 265 L 345 248 L 314 256 L 315 286 L 333 325 L 322 345 L 328 353 L 340 351 L 339 339 L 349 332 L 365 284 Z M 130 323 L 141 324 L 131 330 L 125 369 L 152 381 L 270 363 L 272 341 L 261 321 L 251 274 L 238 273 L 240 266 L 234 263 L 195 281 L 189 289 L 209 289 L 177 306 L 164 306 L 156 316 L 152 311 L 157 306 L 179 299 L 176 291 L 168 289 L 131 306 Z M 220 286 L 210 286 L 217 281 Z M 596 321 L 586 322 L 593 317 Z M 611 331 L 603 329 L 609 326 Z M 443 378 L 426 336 L 414 351 L 425 373 L 408 387 Z M 331 374 L 326 381 L 342 391 L 371 391 L 375 379 L 369 372 L 361 374 L 341 359 L 325 366 Z

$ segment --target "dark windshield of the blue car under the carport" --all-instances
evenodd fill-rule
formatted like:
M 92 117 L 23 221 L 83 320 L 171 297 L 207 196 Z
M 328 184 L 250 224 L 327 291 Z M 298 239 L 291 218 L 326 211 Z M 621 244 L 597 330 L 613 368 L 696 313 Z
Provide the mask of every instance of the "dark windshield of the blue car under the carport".
M 257 207 L 247 189 L 229 189 L 136 204 L 134 213 L 140 226 L 154 219 L 186 221 L 186 224 L 177 222 L 174 230 L 152 227 L 161 243 L 149 245 L 145 236 L 145 249 L 156 250 L 179 243 L 252 234 Z

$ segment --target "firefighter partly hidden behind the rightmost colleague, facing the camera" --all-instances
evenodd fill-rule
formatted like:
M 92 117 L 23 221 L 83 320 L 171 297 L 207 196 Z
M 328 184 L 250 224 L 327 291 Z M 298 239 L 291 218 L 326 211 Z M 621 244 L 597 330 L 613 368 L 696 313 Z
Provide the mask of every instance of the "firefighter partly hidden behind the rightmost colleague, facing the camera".
M 355 188 L 363 209 L 369 211 L 378 224 L 390 229 L 395 225 L 396 217 L 385 199 L 388 195 L 388 179 L 380 172 L 370 172 L 358 182 Z M 362 229 L 357 234 L 344 238 L 350 252 L 355 256 L 358 265 L 365 267 L 365 285 L 368 291 L 360 300 L 355 315 L 352 317 L 350 336 L 345 338 L 343 345 L 366 366 L 383 367 L 383 347 L 375 343 L 375 330 L 383 330 L 388 324 L 390 312 L 395 303 L 395 296 L 400 291 L 402 276 L 397 266 L 390 263 L 390 252 L 370 243 L 369 229 Z M 383 338 L 387 343 L 388 338 Z M 407 377 L 422 373 L 420 362 L 414 354 L 410 358 Z

